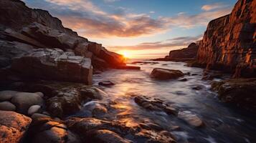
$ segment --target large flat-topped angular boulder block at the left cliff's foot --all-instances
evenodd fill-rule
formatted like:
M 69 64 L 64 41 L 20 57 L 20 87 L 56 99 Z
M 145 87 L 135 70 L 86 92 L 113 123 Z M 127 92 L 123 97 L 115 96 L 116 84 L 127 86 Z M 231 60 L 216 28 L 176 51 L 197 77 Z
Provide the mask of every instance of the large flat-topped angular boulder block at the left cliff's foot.
M 11 69 L 34 79 L 92 84 L 93 66 L 90 59 L 70 56 L 69 51 L 61 49 L 34 49 L 31 53 L 14 59 Z

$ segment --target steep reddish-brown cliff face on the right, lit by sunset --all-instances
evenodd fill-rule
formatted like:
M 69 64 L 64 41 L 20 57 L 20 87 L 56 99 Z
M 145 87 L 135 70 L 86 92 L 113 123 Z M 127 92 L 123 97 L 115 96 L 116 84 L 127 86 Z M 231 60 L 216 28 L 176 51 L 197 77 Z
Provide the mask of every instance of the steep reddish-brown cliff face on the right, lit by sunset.
M 209 69 L 255 76 L 256 0 L 239 0 L 232 13 L 209 22 L 199 44 L 197 62 Z

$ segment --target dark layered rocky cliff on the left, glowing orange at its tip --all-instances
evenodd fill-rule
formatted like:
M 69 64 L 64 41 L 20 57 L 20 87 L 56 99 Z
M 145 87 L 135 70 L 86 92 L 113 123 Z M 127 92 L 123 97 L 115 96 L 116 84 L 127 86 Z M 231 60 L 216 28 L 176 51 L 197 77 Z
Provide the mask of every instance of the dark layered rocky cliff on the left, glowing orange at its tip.
M 123 56 L 78 36 L 48 11 L 19 0 L 0 1 L 1 81 L 19 75 L 91 84 L 93 69 L 106 68 L 127 66 Z

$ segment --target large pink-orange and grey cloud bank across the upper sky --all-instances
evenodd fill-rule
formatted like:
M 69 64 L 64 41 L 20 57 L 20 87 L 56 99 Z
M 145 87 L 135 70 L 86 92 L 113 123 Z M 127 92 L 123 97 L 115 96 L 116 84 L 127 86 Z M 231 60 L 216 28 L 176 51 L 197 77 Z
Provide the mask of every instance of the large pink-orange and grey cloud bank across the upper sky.
M 32 0 L 27 0 L 28 3 L 29 1 Z M 206 26 L 210 20 L 231 11 L 230 8 L 224 8 L 195 15 L 182 13 L 172 17 L 152 18 L 148 14 L 131 13 L 124 7 L 110 6 L 110 11 L 103 11 L 90 0 L 34 1 L 31 4 L 38 4 L 37 7 L 49 10 L 62 20 L 64 26 L 77 31 L 81 36 L 91 38 L 148 36 L 169 31 L 174 27 L 187 29 Z

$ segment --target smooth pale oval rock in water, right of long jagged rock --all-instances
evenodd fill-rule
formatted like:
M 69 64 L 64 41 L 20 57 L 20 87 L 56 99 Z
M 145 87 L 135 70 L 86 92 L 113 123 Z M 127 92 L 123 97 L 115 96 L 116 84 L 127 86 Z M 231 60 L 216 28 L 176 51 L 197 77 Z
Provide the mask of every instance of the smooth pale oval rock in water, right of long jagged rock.
M 178 117 L 194 127 L 202 127 L 204 125 L 204 122 L 196 114 L 192 114 L 189 111 L 179 112 Z

